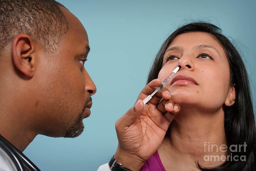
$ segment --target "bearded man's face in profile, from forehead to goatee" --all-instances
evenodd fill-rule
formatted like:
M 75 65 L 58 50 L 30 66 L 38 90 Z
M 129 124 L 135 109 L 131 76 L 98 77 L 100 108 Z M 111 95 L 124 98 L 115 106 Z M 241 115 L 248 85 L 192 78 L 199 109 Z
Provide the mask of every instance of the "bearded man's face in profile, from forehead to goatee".
M 37 76 L 40 84 L 37 97 L 44 130 L 40 134 L 76 137 L 83 131 L 82 120 L 90 115 L 90 96 L 96 87 L 83 65 L 89 52 L 86 30 L 68 10 L 62 8 L 62 11 L 69 22 L 69 32 L 55 54 L 40 54 L 38 59 L 37 73 L 41 76 Z

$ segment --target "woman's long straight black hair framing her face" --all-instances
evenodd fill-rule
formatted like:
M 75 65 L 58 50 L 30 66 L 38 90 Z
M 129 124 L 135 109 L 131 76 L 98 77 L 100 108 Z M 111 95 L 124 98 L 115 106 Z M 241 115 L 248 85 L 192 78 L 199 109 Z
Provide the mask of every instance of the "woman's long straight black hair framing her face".
M 253 105 L 251 100 L 251 91 L 249 87 L 248 75 L 241 59 L 240 54 L 229 41 L 227 37 L 222 35 L 222 30 L 217 26 L 207 22 L 193 22 L 178 28 L 163 43 L 150 69 L 147 84 L 158 77 L 161 70 L 164 52 L 176 36 L 186 32 L 206 32 L 214 36 L 222 45 L 228 58 L 230 67 L 230 86 L 235 84 L 236 102 L 231 107 L 225 107 L 224 128 L 226 134 L 227 145 L 242 145 L 246 143 L 246 152 L 241 147 L 241 152 L 232 152 L 232 156 L 245 155 L 246 161 L 226 161 L 214 168 L 205 168 L 200 166 L 197 161 L 197 167 L 200 170 L 256 170 L 255 152 L 256 152 L 256 129 L 253 113 Z M 243 158 L 242 158 L 243 159 Z

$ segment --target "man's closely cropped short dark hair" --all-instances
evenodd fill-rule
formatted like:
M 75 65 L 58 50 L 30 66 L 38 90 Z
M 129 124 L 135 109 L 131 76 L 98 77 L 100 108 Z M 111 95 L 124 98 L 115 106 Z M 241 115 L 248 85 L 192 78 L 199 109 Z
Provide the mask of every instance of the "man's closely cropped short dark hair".
M 0 4 L 0 55 L 20 33 L 28 34 L 46 51 L 53 52 L 69 31 L 60 9 L 64 6 L 54 0 L 0 0 Z

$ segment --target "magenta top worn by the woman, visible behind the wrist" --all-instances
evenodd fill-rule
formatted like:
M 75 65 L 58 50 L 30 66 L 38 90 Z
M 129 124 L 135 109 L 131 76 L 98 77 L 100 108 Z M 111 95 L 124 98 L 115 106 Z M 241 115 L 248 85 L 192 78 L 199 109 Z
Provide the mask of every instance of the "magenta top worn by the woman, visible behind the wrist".
M 142 166 L 140 171 L 166 171 L 161 159 L 159 157 L 158 151 L 152 157 L 150 157 Z

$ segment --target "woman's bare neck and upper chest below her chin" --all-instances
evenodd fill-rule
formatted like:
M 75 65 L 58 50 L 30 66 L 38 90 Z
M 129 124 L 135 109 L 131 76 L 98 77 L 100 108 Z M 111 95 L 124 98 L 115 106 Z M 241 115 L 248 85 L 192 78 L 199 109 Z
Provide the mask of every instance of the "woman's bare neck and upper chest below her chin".
M 214 158 L 208 161 L 208 156 L 226 156 L 224 145 L 226 137 L 222 108 L 210 114 L 197 109 L 183 109 L 170 124 L 170 134 L 167 134 L 158 152 L 166 170 L 195 170 L 196 161 L 207 167 L 222 163 L 218 157 L 216 161 Z

